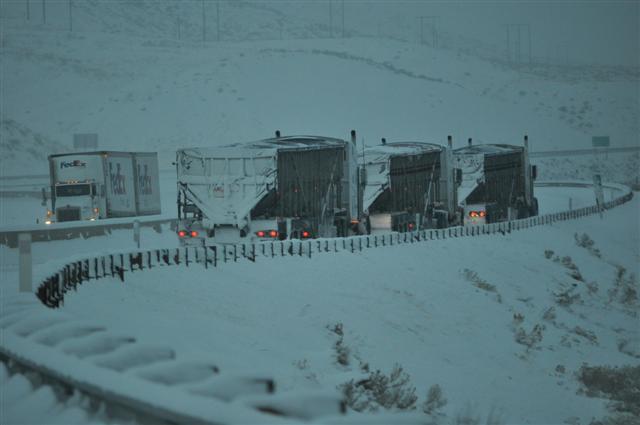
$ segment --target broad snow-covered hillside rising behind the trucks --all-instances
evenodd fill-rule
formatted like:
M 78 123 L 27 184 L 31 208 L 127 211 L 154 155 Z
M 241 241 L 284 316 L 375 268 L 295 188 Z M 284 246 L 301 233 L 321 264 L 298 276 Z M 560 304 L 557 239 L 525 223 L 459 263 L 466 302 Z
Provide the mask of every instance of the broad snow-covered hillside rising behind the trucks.
M 3 15 L 2 119 L 61 145 L 95 132 L 102 148 L 161 151 L 166 168 L 177 147 L 259 139 L 276 128 L 343 137 L 355 128 L 367 144 L 444 143 L 447 134 L 456 145 L 467 137 L 520 143 L 524 133 L 533 150 L 587 148 L 601 134 L 614 146 L 639 143 L 635 71 L 567 80 L 561 67 L 514 68 L 461 49 L 357 33 L 318 38 L 327 28 L 313 21 L 317 11 L 283 12 L 277 2 L 233 3 L 220 43 L 213 32 L 206 43 L 196 37 L 199 10 L 171 9 L 186 3 L 77 3 L 73 32 L 54 25 L 66 9 L 54 18 L 52 6 L 49 24 L 26 28 L 22 7 L 5 6 Z M 276 16 L 287 22 L 282 40 L 278 28 L 272 34 Z M 167 33 L 176 17 L 185 22 L 179 37 Z M 224 41 L 236 39 L 232 28 L 255 36 Z M 25 151 L 35 148 L 21 140 Z M 46 173 L 28 153 L 2 159 L 4 175 Z

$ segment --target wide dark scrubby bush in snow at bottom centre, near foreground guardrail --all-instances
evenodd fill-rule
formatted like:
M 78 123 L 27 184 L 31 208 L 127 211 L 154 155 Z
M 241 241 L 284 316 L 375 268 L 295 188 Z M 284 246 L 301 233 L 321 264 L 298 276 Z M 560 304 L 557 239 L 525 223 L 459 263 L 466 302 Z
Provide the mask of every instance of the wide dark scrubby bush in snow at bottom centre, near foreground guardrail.
M 388 376 L 376 370 L 367 379 L 342 384 L 341 390 L 347 406 L 358 412 L 379 408 L 411 410 L 416 408 L 418 399 L 409 375 L 397 364 Z

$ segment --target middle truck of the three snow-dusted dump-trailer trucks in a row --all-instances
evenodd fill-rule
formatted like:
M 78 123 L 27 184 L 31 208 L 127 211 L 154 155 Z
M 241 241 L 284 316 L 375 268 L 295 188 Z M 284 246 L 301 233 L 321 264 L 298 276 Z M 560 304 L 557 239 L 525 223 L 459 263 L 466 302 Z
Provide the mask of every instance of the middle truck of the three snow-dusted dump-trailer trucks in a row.
M 450 146 L 382 139 L 381 145 L 366 148 L 361 167 L 367 228 L 402 232 L 457 223 L 457 173 Z

